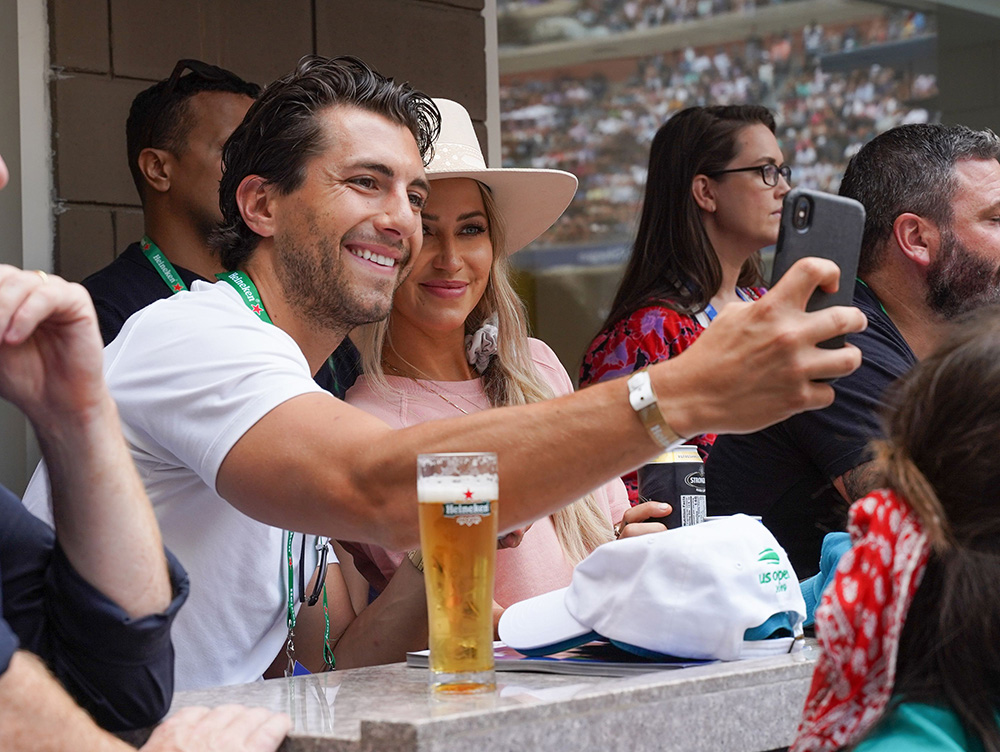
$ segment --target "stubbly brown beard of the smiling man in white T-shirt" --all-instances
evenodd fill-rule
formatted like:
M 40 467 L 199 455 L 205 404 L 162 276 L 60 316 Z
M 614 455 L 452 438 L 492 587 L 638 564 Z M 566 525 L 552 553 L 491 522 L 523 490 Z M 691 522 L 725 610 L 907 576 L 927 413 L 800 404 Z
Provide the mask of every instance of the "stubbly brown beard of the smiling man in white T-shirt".
M 289 305 L 307 325 L 346 334 L 389 315 L 392 295 L 401 279 L 394 283 L 386 280 L 384 290 L 358 289 L 344 272 L 343 255 L 349 251 L 343 238 L 338 248 L 311 223 L 305 237 L 315 242 L 315 252 L 296 245 L 294 239 L 275 239 L 275 271 Z M 398 265 L 405 267 L 407 259 L 400 259 Z

